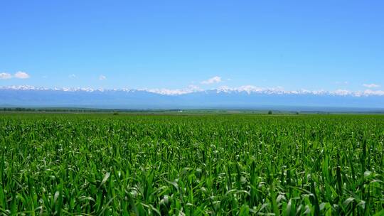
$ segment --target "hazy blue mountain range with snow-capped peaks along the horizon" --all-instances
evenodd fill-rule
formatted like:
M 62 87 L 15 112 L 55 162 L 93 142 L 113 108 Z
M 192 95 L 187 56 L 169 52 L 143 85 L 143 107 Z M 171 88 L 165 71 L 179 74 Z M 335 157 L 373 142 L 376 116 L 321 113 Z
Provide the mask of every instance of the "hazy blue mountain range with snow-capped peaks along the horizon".
M 93 107 L 119 109 L 258 109 L 262 107 L 384 109 L 384 91 L 287 91 L 251 85 L 201 90 L 0 87 L 0 107 Z

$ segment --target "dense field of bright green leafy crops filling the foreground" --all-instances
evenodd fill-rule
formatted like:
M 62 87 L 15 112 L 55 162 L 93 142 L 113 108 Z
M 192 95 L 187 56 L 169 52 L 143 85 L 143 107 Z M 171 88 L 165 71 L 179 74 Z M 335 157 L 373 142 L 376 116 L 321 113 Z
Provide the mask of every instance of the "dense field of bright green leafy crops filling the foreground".
M 383 116 L 0 116 L 11 215 L 374 215 Z

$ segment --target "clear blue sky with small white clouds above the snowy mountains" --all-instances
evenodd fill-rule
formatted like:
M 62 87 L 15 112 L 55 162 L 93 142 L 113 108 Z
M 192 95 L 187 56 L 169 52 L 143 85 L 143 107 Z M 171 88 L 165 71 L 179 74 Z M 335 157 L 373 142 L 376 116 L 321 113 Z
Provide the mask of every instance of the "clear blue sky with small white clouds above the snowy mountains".
M 0 1 L 0 86 L 383 90 L 383 9 L 383 1 Z

